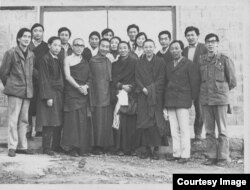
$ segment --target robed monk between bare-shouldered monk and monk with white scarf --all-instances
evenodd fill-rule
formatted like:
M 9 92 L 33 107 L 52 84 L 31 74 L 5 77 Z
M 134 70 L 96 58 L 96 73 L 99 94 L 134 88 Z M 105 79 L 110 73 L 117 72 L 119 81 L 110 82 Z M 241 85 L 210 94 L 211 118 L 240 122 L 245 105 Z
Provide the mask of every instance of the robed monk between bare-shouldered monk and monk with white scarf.
M 110 105 L 111 62 L 106 57 L 110 49 L 107 39 L 100 40 L 99 52 L 90 59 L 92 73 L 90 88 L 93 110 L 94 149 L 93 154 L 102 154 L 113 146 L 112 108 Z

